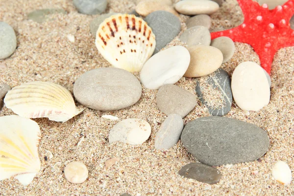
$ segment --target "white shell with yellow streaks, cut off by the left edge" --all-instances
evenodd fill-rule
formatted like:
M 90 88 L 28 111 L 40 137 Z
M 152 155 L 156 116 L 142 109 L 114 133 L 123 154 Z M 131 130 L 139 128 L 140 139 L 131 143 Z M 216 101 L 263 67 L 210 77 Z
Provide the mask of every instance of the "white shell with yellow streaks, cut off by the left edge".
M 14 176 L 24 186 L 41 168 L 39 125 L 20 116 L 0 117 L 0 180 Z

